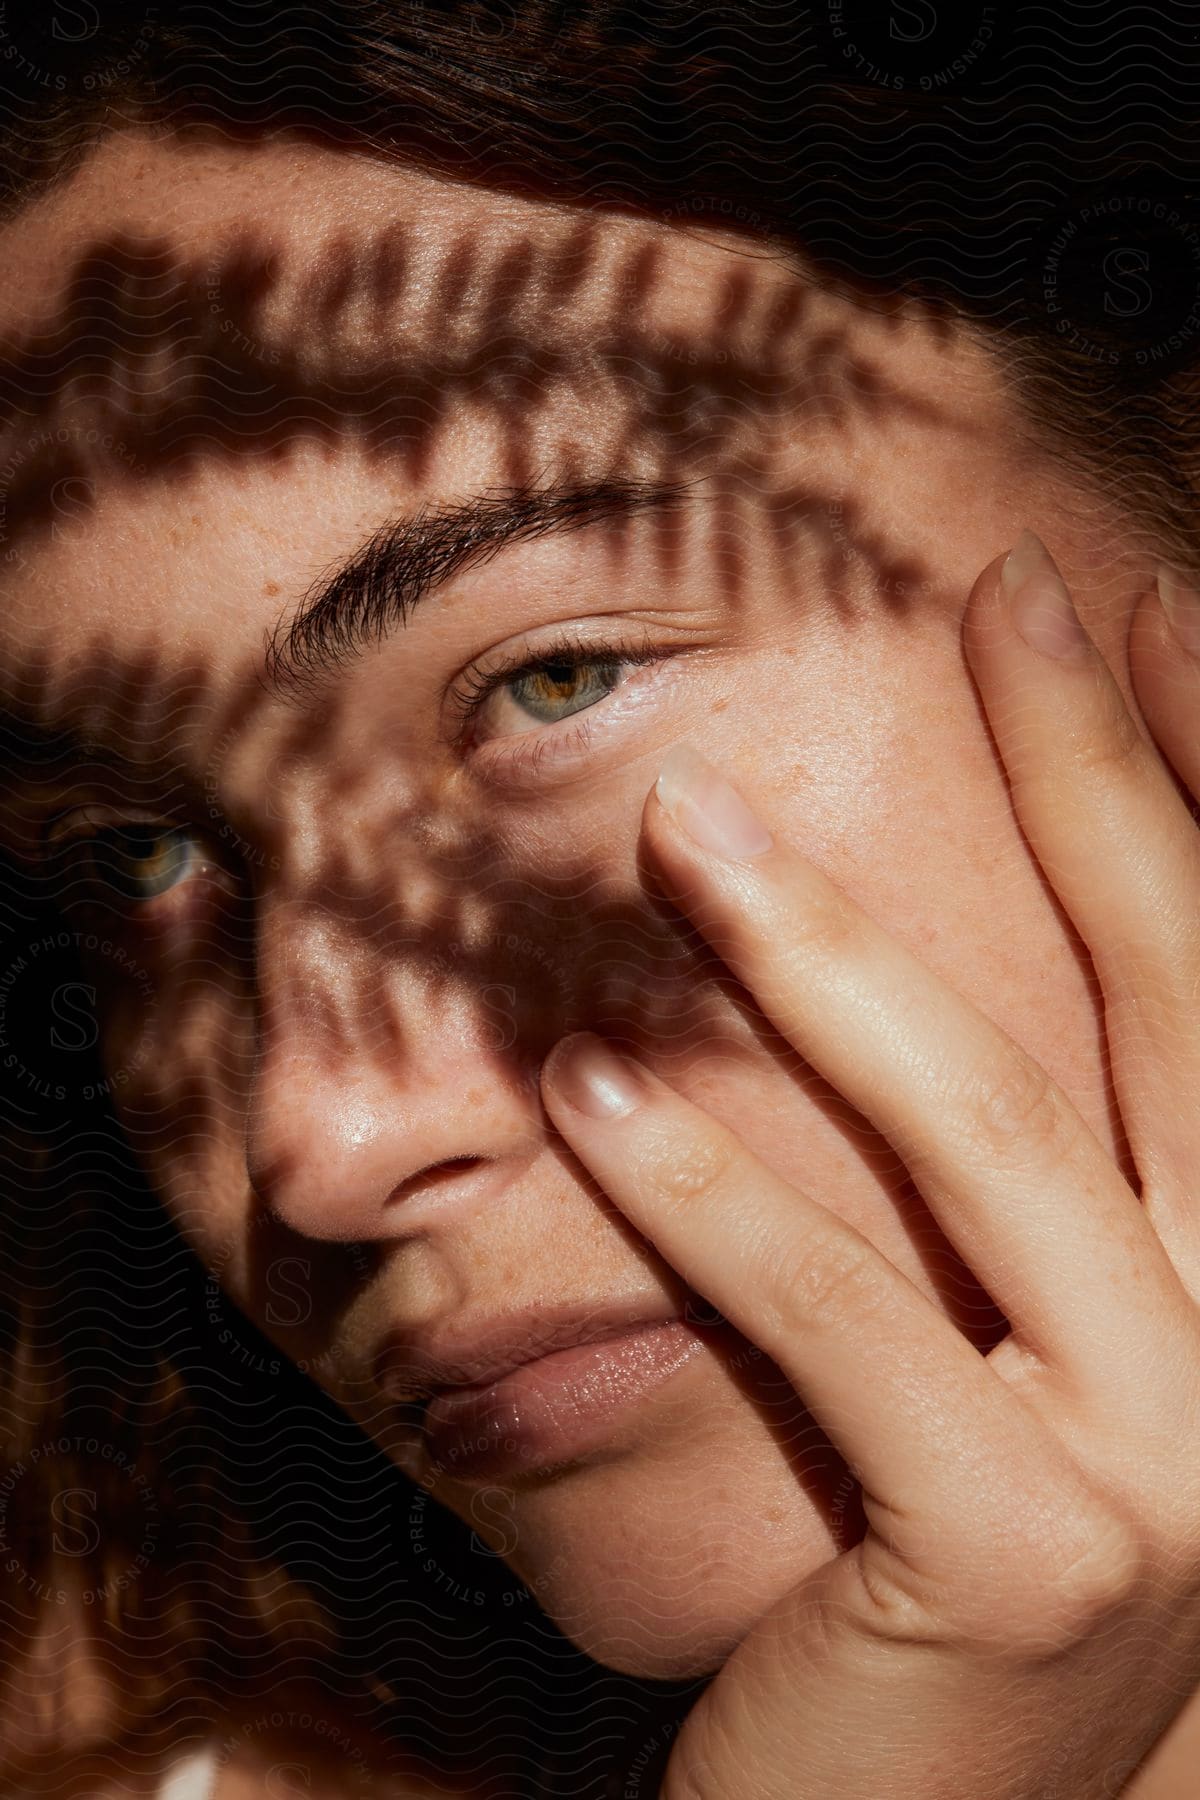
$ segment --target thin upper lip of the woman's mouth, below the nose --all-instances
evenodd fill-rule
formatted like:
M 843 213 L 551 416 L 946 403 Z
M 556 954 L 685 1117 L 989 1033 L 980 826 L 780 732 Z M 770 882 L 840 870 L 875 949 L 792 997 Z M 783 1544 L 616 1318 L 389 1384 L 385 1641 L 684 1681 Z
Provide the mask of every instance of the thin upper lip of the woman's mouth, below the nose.
M 475 1388 L 554 1350 L 624 1337 L 678 1318 L 680 1312 L 667 1303 L 653 1307 L 644 1300 L 507 1312 L 475 1325 L 455 1323 L 453 1330 L 425 1341 L 416 1334 L 392 1336 L 376 1357 L 374 1375 L 380 1388 L 396 1399 L 426 1400 L 439 1388 Z

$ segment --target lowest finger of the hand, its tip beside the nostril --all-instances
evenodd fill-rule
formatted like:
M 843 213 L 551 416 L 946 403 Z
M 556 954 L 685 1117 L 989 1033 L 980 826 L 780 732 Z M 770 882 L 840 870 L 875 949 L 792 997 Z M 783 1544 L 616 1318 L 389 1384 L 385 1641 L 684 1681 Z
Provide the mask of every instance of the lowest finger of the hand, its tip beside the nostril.
M 1033 1411 L 855 1226 L 588 1031 L 554 1046 L 542 1091 L 603 1192 L 779 1364 L 887 1508 L 891 1548 L 912 1559 L 937 1543 L 970 1573 L 1015 1507 L 1063 1516 Z

